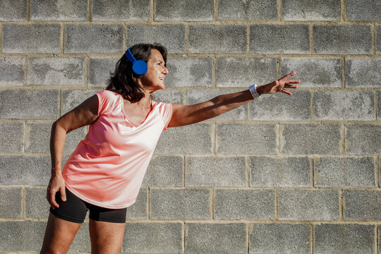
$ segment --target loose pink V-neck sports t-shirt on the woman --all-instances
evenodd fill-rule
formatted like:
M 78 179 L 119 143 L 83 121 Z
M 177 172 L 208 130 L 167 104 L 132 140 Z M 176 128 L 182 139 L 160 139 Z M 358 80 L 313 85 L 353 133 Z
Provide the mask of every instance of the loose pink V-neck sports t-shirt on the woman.
M 152 102 L 143 123 L 133 123 L 123 109 L 123 97 L 97 93 L 98 119 L 65 164 L 66 188 L 92 205 L 119 209 L 138 196 L 157 140 L 167 129 L 171 104 Z

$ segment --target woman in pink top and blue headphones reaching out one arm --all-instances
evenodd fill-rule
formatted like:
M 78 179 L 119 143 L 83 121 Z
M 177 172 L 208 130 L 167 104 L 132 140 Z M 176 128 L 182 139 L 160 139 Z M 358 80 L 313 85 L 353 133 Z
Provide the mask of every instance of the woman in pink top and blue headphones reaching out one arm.
M 143 60 L 143 61 L 138 61 Z M 126 207 L 135 202 L 159 135 L 167 127 L 197 123 L 240 107 L 262 94 L 291 92 L 289 73 L 249 90 L 220 95 L 194 105 L 153 102 L 164 89 L 167 49 L 137 44 L 116 64 L 107 90 L 98 92 L 61 116 L 52 126 L 52 178 L 47 188 L 51 205 L 41 253 L 66 253 L 90 210 L 92 253 L 119 253 Z M 66 133 L 90 125 L 61 171 Z

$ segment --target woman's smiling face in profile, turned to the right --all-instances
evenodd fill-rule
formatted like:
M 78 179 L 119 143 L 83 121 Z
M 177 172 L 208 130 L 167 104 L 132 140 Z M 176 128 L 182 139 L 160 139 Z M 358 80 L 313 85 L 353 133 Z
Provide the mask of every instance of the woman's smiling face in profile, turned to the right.
M 157 49 L 151 49 L 151 58 L 147 62 L 148 71 L 138 78 L 138 82 L 145 90 L 155 92 L 164 89 L 164 78 L 168 74 L 162 54 Z

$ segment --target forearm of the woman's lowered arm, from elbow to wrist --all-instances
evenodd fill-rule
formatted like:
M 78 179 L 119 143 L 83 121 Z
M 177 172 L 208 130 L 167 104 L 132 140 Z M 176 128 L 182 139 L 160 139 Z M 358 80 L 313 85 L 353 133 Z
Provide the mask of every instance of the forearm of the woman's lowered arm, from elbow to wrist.
M 63 146 L 65 145 L 66 130 L 59 125 L 58 121 L 52 125 L 50 135 L 50 157 L 52 168 L 62 167 Z

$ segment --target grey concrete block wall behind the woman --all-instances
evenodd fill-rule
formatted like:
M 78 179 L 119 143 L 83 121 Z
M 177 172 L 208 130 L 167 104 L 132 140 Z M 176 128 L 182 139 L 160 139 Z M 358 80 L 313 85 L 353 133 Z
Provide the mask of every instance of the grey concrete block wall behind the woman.
M 121 253 L 381 253 L 380 13 L 379 0 L 0 1 L 0 253 L 40 250 L 52 123 L 139 42 L 169 52 L 157 101 L 291 71 L 301 84 L 164 131 Z M 90 251 L 86 219 L 69 253 Z

